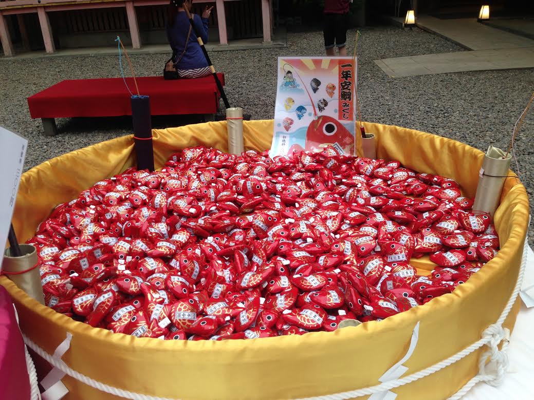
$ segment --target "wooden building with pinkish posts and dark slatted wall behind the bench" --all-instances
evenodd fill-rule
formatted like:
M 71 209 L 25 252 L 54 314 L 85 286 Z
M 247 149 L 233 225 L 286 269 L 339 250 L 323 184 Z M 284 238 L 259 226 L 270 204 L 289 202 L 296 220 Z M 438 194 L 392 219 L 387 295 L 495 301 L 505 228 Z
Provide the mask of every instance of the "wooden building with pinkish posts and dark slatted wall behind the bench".
M 109 46 L 115 36 L 139 49 L 166 43 L 169 0 L 0 0 L 0 38 L 5 55 L 23 51 Z M 213 5 L 210 41 L 271 41 L 272 0 L 194 0 L 193 12 Z

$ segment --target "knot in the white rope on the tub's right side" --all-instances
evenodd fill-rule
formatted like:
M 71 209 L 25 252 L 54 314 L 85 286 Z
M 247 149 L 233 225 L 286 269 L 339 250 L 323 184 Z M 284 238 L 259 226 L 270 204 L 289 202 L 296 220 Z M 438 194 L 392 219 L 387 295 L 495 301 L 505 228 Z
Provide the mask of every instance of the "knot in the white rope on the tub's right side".
M 481 380 L 491 386 L 499 386 L 508 369 L 508 354 L 506 350 L 510 339 L 510 331 L 502 325 L 492 324 L 482 333 L 482 338 L 489 338 L 488 350 L 484 351 L 478 362 L 478 374 Z M 499 345 L 502 342 L 501 349 Z M 489 362 L 486 364 L 486 361 Z

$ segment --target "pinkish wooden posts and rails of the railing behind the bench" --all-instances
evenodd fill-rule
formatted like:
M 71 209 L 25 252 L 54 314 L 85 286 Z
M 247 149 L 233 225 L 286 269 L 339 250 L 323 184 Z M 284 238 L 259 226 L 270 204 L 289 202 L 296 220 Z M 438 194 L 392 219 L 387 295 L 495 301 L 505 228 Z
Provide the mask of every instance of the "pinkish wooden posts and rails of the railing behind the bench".
M 226 13 L 225 3 L 235 3 L 233 9 L 240 10 L 239 15 L 232 13 L 231 19 L 234 30 L 238 36 L 261 36 L 264 42 L 271 41 L 271 0 L 259 0 L 261 2 L 261 17 L 257 12 L 250 13 L 247 9 L 248 2 L 241 0 L 195 0 L 198 3 L 215 3 L 215 12 L 211 19 L 218 28 L 219 43 L 227 44 Z M 242 4 L 238 4 L 242 3 Z M 10 31 L 7 28 L 6 16 L 17 15 L 17 22 L 21 31 L 26 31 L 26 27 L 21 26 L 24 19 L 22 14 L 36 13 L 41 28 L 44 48 L 46 52 L 52 53 L 56 50 L 53 41 L 52 27 L 50 24 L 50 12 L 71 11 L 68 17 L 62 21 L 59 30 L 68 33 L 87 33 L 98 31 L 120 31 L 129 30 L 132 47 L 139 49 L 141 41 L 139 37 L 139 24 L 136 13 L 136 6 L 167 5 L 169 0 L 0 0 L 0 39 L 4 49 L 4 55 L 13 55 L 13 44 Z M 101 9 L 106 10 L 105 13 Z M 125 12 L 124 12 L 125 9 Z M 90 13 L 87 10 L 91 10 Z M 164 27 L 163 7 L 153 7 L 151 16 L 154 29 Z M 73 13 L 72 11 L 84 11 L 83 13 Z M 215 23 L 216 22 L 216 23 Z M 252 22 L 252 23 L 251 23 Z M 258 27 L 262 27 L 262 32 Z

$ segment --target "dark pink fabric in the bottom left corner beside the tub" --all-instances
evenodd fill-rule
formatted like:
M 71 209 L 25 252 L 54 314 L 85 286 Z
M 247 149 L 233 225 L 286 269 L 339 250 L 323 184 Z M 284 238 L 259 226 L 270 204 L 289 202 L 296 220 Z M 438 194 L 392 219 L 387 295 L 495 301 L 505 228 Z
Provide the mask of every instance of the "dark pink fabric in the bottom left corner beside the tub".
M 15 319 L 11 297 L 3 286 L 0 286 L 0 398 L 30 398 L 24 342 Z

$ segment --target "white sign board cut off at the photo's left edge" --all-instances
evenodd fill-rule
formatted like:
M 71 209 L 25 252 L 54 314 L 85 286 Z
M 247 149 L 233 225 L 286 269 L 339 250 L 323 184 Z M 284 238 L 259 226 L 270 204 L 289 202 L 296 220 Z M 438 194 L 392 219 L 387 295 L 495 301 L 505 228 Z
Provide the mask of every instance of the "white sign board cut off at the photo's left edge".
M 0 212 L 0 254 L 2 257 L 19 191 L 27 147 L 27 139 L 0 126 L 0 210 L 2 210 Z

